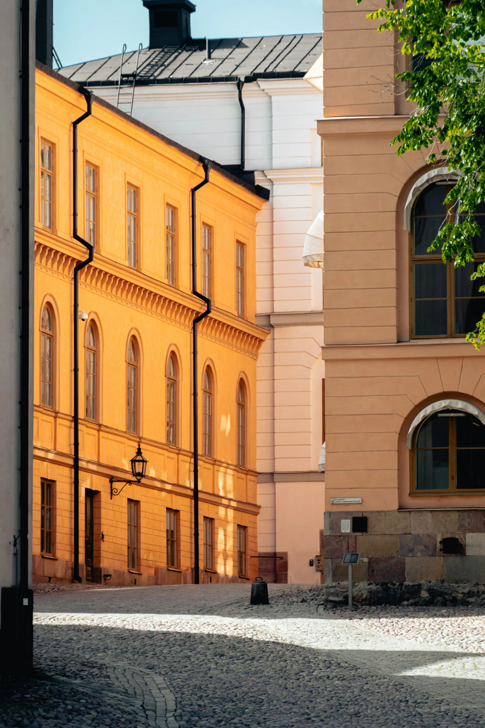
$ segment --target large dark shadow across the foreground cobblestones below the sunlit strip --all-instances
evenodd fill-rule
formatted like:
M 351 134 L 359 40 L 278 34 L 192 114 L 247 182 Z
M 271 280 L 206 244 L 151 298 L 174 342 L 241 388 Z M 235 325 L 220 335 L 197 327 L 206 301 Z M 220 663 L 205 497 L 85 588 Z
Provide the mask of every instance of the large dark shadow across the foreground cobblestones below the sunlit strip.
M 483 682 L 399 677 L 388 670 L 390 660 L 396 668 L 392 672 L 401 673 L 444 657 L 467 657 L 463 652 L 392 652 L 391 657 L 389 652 L 379 650 L 311 649 L 258 638 L 92 625 L 37 625 L 35 634 L 37 660 L 47 673 L 69 681 L 80 680 L 84 686 L 95 688 L 100 696 L 113 689 L 120 695 L 123 692 L 120 682 L 113 682 L 113 668 L 109 667 L 117 662 L 130 665 L 132 670 L 143 669 L 161 676 L 177 703 L 177 723 L 172 725 L 181 728 L 484 727 L 481 710 L 457 707 L 420 689 L 421 680 L 432 679 L 438 694 L 446 695 L 451 683 L 455 689 L 463 688 L 470 694 L 481 692 Z M 53 705 L 56 689 L 49 688 Z M 130 688 L 126 682 L 124 697 L 130 696 L 132 704 L 140 707 L 140 689 L 137 692 L 134 685 Z M 96 705 L 95 702 L 92 692 L 87 697 L 86 710 L 94 706 L 100 717 L 93 717 L 86 725 L 167 725 L 154 721 L 153 716 L 129 723 L 127 715 L 121 719 L 116 714 L 123 712 L 120 706 L 106 715 L 103 701 Z M 49 711 L 52 712 L 51 708 Z M 65 723 L 27 721 L 6 725 L 57 728 L 71 723 L 84 725 L 68 719 Z

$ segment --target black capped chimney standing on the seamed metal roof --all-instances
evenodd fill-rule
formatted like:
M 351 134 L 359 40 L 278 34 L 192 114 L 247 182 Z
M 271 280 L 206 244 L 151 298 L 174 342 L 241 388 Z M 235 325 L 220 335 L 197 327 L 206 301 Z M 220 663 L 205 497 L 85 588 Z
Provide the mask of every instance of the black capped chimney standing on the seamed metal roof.
M 51 0 L 52 1 L 52 0 Z M 143 0 L 150 12 L 150 47 L 180 46 L 192 40 L 190 0 Z

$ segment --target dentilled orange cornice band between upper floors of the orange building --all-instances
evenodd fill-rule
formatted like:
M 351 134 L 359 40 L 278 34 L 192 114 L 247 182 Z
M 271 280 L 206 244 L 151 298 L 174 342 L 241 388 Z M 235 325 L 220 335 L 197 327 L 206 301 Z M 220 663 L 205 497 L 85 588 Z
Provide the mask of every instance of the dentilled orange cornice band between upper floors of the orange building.
M 46 242 L 36 242 L 37 268 L 71 281 L 76 263 L 76 258 L 71 254 L 52 248 Z M 155 286 L 149 288 L 148 282 L 150 280 L 145 280 L 143 283 L 128 280 L 125 276 L 103 269 L 101 265 L 96 264 L 96 261 L 82 269 L 79 275 L 79 285 L 82 288 L 119 301 L 125 306 L 148 312 L 167 323 L 190 331 L 193 319 L 201 312 L 199 302 L 180 291 L 176 293 L 181 299 L 186 300 L 177 301 L 175 296 L 171 298 L 154 290 Z M 212 309 L 212 314 L 199 324 L 199 333 L 206 339 L 223 344 L 252 359 L 257 359 L 261 344 L 268 335 L 268 332 L 259 326 L 220 309 Z

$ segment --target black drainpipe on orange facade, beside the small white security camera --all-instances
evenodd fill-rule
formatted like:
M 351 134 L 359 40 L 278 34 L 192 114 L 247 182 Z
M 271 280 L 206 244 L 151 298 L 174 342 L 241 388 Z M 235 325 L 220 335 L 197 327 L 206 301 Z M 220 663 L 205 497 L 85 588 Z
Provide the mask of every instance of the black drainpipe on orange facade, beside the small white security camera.
M 84 91 L 87 111 L 73 122 L 73 238 L 89 251 L 85 261 L 74 268 L 74 563 L 73 581 L 81 582 L 79 576 L 79 271 L 92 262 L 94 248 L 78 235 L 78 124 L 92 113 L 92 96 Z

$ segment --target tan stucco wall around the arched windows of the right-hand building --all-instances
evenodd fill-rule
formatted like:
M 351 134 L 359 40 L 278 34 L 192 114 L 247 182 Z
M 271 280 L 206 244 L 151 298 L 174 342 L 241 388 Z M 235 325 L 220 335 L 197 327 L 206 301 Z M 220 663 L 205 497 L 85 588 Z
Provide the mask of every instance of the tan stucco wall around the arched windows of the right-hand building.
M 414 416 L 444 397 L 484 409 L 485 358 L 464 339 L 410 339 L 403 215 L 412 185 L 427 170 L 426 152 L 398 157 L 390 146 L 412 107 L 403 87 L 391 87 L 404 58 L 394 36 L 377 33 L 377 22 L 366 19 L 374 9 L 368 0 L 324 0 L 324 117 L 318 133 L 324 140 L 325 510 L 333 516 L 356 507 L 369 515 L 452 509 L 458 519 L 460 509 L 483 508 L 485 496 L 410 495 L 406 435 Z M 361 497 L 361 505 L 332 505 L 332 498 L 353 496 Z M 393 538 L 409 532 L 403 525 Z M 434 541 L 429 557 L 416 544 L 401 553 L 398 541 L 382 557 L 441 563 L 447 557 L 436 554 Z M 324 544 L 326 559 L 340 557 L 327 536 Z M 359 550 L 357 542 L 348 544 L 354 548 Z M 364 553 L 364 542 L 361 548 Z M 465 553 L 461 559 L 468 558 Z M 406 564 L 396 561 L 395 567 L 396 579 L 389 581 L 401 580 L 400 569 L 408 578 Z M 459 576 L 439 569 L 441 576 L 433 579 Z M 328 566 L 326 573 L 328 579 Z

